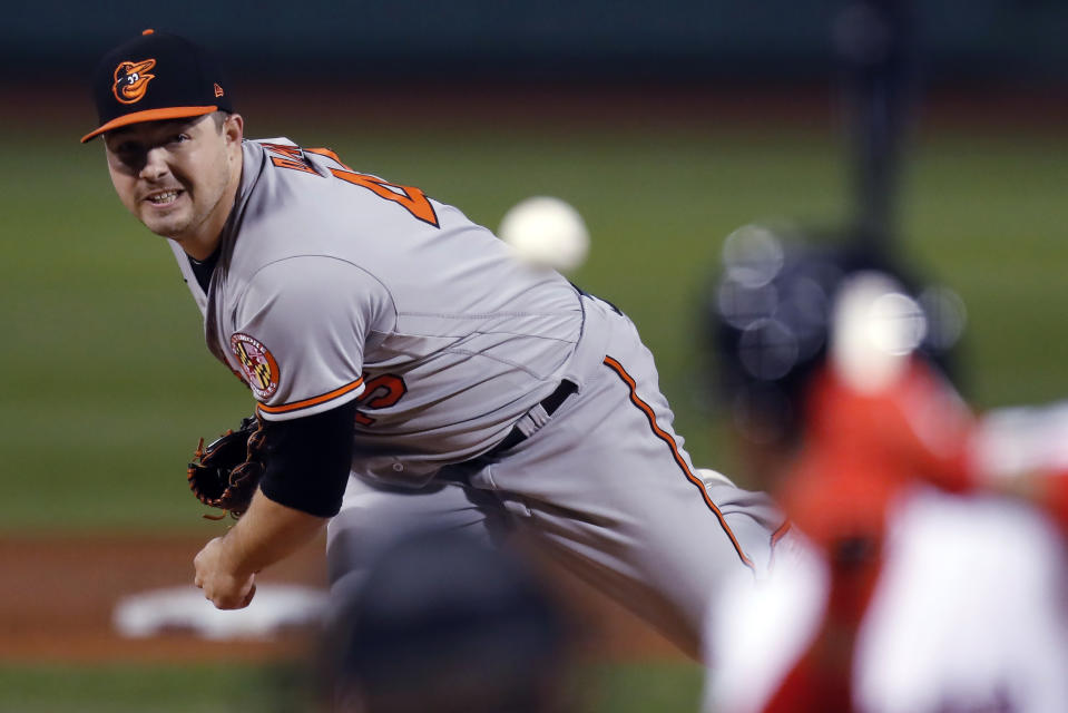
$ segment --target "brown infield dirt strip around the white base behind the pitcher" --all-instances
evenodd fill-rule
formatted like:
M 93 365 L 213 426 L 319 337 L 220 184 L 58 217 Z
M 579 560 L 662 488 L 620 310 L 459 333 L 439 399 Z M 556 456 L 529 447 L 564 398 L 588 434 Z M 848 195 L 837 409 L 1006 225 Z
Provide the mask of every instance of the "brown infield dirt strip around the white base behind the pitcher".
M 266 662 L 305 653 L 314 641 L 310 632 L 221 642 L 182 631 L 129 638 L 114 629 L 112 612 L 123 597 L 192 583 L 193 557 L 213 535 L 0 538 L 0 661 Z M 259 582 L 325 587 L 321 553 L 321 543 L 308 546 Z M 615 603 L 551 568 L 549 578 L 584 628 L 581 647 L 590 658 L 682 660 Z

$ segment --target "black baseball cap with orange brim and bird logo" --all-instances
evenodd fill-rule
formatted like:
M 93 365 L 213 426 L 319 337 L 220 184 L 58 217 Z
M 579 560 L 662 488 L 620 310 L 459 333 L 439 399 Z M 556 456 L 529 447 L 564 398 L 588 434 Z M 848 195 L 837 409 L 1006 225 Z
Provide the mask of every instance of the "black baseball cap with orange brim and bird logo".
M 97 64 L 92 97 L 100 126 L 81 143 L 130 124 L 233 111 L 226 86 L 203 48 L 176 35 L 145 30 Z

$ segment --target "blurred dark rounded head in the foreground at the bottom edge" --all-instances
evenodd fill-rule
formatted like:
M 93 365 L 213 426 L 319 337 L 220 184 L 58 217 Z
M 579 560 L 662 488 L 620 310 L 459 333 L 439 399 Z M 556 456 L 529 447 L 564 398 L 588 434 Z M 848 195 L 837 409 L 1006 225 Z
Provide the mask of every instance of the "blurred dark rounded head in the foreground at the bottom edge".
M 567 711 L 569 627 L 515 553 L 455 531 L 385 548 L 326 641 L 344 713 Z

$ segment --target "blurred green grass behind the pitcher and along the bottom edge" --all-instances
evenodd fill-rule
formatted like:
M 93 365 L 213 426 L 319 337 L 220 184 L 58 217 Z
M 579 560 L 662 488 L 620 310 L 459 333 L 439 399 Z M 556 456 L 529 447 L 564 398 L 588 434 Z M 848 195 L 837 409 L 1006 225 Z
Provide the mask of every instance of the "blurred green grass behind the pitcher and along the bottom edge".
M 695 460 L 732 472 L 723 423 L 697 393 L 702 293 L 721 242 L 739 225 L 844 218 L 837 138 L 715 123 L 670 130 L 431 124 L 286 130 L 491 227 L 528 195 L 574 203 L 594 241 L 576 282 L 630 314 L 657 355 Z M 17 148 L 0 155 L 0 531 L 197 527 L 202 509 L 185 462 L 197 437 L 249 412 L 251 397 L 207 353 L 169 251 L 125 214 L 100 146 L 77 144 L 80 124 L 53 125 L 9 131 Z M 249 134 L 271 135 L 255 126 Z M 967 393 L 982 408 L 1068 398 L 1066 144 L 1064 134 L 947 129 L 924 135 L 908 165 L 901 247 L 963 296 Z M 234 671 L 255 687 L 257 672 Z M 9 668 L 0 671 L 0 711 L 247 710 L 222 695 L 225 678 L 197 691 L 196 675 Z M 604 676 L 605 711 L 689 711 L 699 688 L 687 667 Z M 653 704 L 643 693 L 667 697 Z

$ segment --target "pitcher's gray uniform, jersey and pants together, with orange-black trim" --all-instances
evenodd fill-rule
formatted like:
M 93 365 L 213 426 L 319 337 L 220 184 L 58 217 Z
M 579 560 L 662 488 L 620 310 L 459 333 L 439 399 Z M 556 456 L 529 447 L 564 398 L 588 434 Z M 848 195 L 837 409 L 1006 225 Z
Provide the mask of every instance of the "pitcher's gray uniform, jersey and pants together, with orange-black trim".
M 207 294 L 173 247 L 263 418 L 360 400 L 335 587 L 404 528 L 507 521 L 696 654 L 717 584 L 770 561 L 781 518 L 694 468 L 634 324 L 458 209 L 325 149 L 246 141 Z

